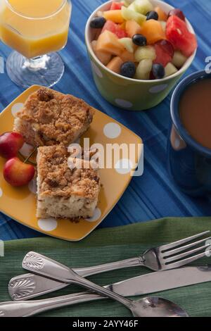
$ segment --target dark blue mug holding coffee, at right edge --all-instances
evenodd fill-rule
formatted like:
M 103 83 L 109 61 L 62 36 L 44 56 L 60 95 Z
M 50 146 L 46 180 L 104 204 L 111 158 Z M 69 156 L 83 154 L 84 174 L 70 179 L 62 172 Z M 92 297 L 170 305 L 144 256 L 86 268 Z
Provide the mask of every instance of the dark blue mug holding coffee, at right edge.
M 205 73 L 205 70 L 184 78 L 174 90 L 171 101 L 172 123 L 167 146 L 167 166 L 174 182 L 191 196 L 210 196 L 211 149 L 202 146 L 188 134 L 179 116 L 179 101 L 190 85 L 205 79 L 211 79 L 211 74 Z

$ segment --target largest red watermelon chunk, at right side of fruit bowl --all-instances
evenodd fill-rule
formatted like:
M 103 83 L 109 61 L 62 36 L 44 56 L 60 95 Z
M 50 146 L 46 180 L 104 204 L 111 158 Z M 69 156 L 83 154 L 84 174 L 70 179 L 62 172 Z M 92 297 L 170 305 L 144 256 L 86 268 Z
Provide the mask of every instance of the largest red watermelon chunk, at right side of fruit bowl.
M 186 23 L 176 15 L 167 20 L 166 36 L 174 49 L 181 51 L 186 57 L 191 56 L 197 48 L 196 35 L 189 32 Z

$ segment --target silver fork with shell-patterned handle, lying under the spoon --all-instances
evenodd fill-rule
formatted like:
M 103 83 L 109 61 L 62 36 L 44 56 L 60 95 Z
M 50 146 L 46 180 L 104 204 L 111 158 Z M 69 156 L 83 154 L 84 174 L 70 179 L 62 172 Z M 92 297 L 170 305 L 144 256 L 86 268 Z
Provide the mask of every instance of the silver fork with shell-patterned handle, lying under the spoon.
M 210 239 L 211 237 L 207 237 L 199 241 L 194 241 L 198 237 L 207 235 L 207 233 L 209 232 L 210 231 L 205 231 L 203 233 L 199 233 L 198 235 L 181 239 L 178 242 L 172 242 L 171 244 L 166 244 L 155 247 L 153 249 L 149 249 L 142 256 L 139 256 L 137 258 L 129 258 L 127 260 L 107 263 L 100 266 L 92 266 L 88 268 L 76 268 L 72 270 L 75 273 L 77 273 L 77 275 L 80 275 L 82 277 L 87 277 L 90 275 L 105 273 L 110 270 L 130 268 L 135 266 L 145 266 L 146 268 L 149 268 L 154 271 L 179 268 L 181 266 L 185 266 L 188 263 L 198 260 L 198 258 L 202 258 L 203 256 L 206 256 L 206 251 L 203 251 L 203 253 L 200 254 L 196 254 L 196 253 L 198 251 L 207 249 L 207 247 L 210 247 L 211 244 L 207 243 L 201 245 L 196 249 L 191 249 L 191 248 L 197 246 L 198 244 L 203 244 L 208 239 Z M 39 277 L 40 277 L 40 281 L 33 286 L 28 283 L 28 279 L 29 279 L 28 273 L 27 275 L 21 276 L 21 282 L 20 282 L 20 276 L 13 277 L 8 284 L 8 291 L 11 294 L 12 299 L 15 301 L 23 300 L 23 299 L 27 300 L 68 286 L 68 284 L 66 284 L 65 282 L 56 282 L 55 284 L 53 284 L 53 282 L 49 282 L 49 280 L 46 279 L 45 277 L 42 276 Z M 27 291 L 20 290 L 20 287 L 23 287 L 23 284 L 25 284 L 25 286 L 27 287 Z

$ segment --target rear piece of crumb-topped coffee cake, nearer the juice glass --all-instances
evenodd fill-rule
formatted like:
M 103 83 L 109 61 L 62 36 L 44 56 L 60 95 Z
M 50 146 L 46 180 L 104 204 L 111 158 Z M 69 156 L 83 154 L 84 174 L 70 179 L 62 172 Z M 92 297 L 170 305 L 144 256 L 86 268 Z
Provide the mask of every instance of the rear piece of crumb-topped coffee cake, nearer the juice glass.
M 94 108 L 83 100 L 41 87 L 15 118 L 14 130 L 32 146 L 75 142 L 92 122 Z

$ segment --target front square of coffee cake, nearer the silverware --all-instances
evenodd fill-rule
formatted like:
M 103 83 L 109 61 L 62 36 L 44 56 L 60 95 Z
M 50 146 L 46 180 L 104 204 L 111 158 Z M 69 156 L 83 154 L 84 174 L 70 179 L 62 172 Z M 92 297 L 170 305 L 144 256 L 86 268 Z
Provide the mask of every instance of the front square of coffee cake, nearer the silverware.
M 69 163 L 68 163 L 69 159 Z M 69 168 L 68 164 L 75 167 Z M 82 165 L 82 168 L 78 168 Z M 89 161 L 69 158 L 65 146 L 39 147 L 37 217 L 90 218 L 100 192 L 98 170 Z

